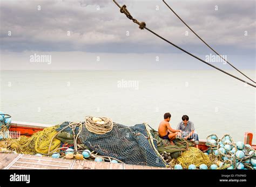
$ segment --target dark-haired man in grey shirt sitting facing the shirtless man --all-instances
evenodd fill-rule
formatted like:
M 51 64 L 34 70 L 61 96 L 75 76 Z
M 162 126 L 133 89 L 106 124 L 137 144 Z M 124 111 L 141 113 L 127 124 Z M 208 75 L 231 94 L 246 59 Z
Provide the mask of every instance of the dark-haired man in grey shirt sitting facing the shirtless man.
M 194 143 L 198 148 L 199 139 L 198 134 L 194 133 L 194 124 L 192 121 L 188 120 L 189 118 L 187 115 L 184 115 L 181 119 L 182 121 L 177 126 L 177 130 L 181 130 L 181 137 L 185 140 L 194 139 Z

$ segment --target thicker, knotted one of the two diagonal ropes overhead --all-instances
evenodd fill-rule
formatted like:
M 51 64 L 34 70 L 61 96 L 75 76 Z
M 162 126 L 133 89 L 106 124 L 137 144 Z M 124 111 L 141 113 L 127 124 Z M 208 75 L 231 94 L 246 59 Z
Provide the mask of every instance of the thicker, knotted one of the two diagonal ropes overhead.
M 118 5 L 118 3 L 117 3 L 115 0 L 113 0 L 113 2 Z M 118 5 L 118 7 L 119 7 L 120 9 L 122 9 L 123 6 L 121 7 L 120 5 Z M 126 6 L 125 6 L 125 7 L 126 7 Z M 126 9 L 126 8 L 125 8 L 125 9 Z M 127 12 L 128 12 L 128 11 L 127 11 Z M 125 13 L 125 15 L 126 15 L 127 12 L 122 12 L 122 13 Z M 129 12 L 128 12 L 128 13 L 129 13 Z M 130 14 L 130 13 L 129 13 L 129 14 Z M 129 18 L 129 17 L 130 17 L 129 14 L 128 14 L 128 16 L 126 15 L 126 17 Z M 129 18 L 129 19 L 130 19 L 130 18 Z M 137 23 L 137 24 L 138 24 L 138 23 Z M 219 70 L 219 71 L 221 71 L 221 72 L 223 72 L 223 73 L 225 73 L 225 74 L 227 74 L 227 75 L 229 75 L 229 76 L 231 76 L 231 77 L 233 77 L 233 78 L 236 78 L 237 80 L 239 80 L 239 81 L 241 81 L 241 82 L 244 82 L 244 83 L 246 83 L 246 84 L 248 84 L 248 85 L 251 85 L 252 87 L 256 88 L 256 85 L 253 85 L 253 84 L 251 84 L 251 83 L 248 83 L 248 82 L 242 80 L 241 78 L 239 78 L 239 77 L 237 77 L 237 76 L 234 76 L 234 75 L 232 75 L 232 74 L 230 74 L 230 73 L 227 73 L 226 71 L 224 71 L 224 70 L 222 70 L 222 69 L 220 69 L 220 68 L 218 68 L 218 67 L 213 66 L 212 64 L 210 64 L 210 63 L 208 63 L 208 62 L 206 62 L 206 61 L 200 59 L 199 57 L 193 55 L 192 53 L 187 52 L 185 49 L 183 49 L 183 48 L 181 48 L 181 47 L 179 47 L 179 46 L 173 44 L 171 41 L 169 41 L 169 40 L 167 40 L 167 39 L 161 37 L 159 34 L 157 34 L 157 33 L 153 32 L 153 31 L 151 31 L 151 30 L 150 30 L 149 28 L 147 28 L 146 26 L 143 26 L 143 28 L 145 28 L 145 30 L 151 32 L 152 34 L 156 35 L 158 38 L 160 38 L 160 39 L 166 41 L 167 43 L 171 44 L 172 46 L 174 46 L 174 47 L 180 49 L 181 51 L 183 51 L 183 52 L 185 52 L 185 53 L 187 53 L 188 55 L 193 56 L 194 58 L 200 60 L 201 62 L 206 63 L 208 66 L 211 66 L 211 67 L 213 67 L 213 68 L 215 68 L 215 69 L 217 69 L 217 70 Z

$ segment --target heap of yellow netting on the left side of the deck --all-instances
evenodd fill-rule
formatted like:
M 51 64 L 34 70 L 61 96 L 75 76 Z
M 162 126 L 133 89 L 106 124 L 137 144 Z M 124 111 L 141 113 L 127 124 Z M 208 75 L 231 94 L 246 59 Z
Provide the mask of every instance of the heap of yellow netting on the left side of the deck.
M 59 125 L 45 128 L 43 131 L 34 133 L 31 137 L 21 136 L 19 139 L 8 139 L 5 141 L 4 147 L 22 154 L 48 154 L 51 139 L 57 133 L 56 128 L 58 127 Z M 59 147 L 60 140 L 54 138 L 50 152 Z

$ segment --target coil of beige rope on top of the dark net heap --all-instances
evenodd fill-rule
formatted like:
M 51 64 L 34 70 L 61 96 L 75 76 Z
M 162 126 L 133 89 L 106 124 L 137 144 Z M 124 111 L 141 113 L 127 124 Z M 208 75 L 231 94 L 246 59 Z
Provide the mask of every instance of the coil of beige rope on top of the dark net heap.
M 104 124 L 98 124 L 96 123 L 96 121 L 93 121 L 92 118 L 93 118 L 92 116 L 85 117 L 85 127 L 87 128 L 88 131 L 95 134 L 105 134 L 112 130 L 113 121 L 111 118 L 100 117 L 100 119 L 104 121 Z

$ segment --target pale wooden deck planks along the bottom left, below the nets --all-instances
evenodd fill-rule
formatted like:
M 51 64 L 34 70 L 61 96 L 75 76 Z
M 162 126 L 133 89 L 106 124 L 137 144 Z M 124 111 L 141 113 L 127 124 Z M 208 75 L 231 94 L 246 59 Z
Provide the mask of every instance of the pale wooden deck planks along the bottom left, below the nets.
M 46 156 L 0 153 L 0 169 L 170 169 L 122 163 L 53 159 Z

